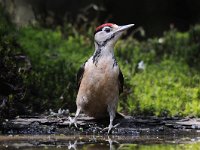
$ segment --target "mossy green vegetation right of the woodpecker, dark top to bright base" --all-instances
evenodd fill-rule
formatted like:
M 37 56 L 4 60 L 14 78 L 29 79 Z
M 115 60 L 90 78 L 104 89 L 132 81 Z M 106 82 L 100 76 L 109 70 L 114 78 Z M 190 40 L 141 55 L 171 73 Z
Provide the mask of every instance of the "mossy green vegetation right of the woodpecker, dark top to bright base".
M 125 76 L 119 111 L 133 115 L 200 116 L 200 28 L 117 45 Z M 162 41 L 162 42 L 161 42 Z M 136 68 L 143 60 L 144 70 Z

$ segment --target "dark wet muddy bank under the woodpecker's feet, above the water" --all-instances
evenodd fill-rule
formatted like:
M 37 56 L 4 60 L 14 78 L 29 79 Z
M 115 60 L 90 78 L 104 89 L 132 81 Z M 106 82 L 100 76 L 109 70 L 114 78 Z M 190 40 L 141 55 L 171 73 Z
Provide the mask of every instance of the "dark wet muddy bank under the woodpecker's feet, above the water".
M 120 123 L 112 130 L 112 135 L 200 135 L 198 118 L 159 118 L 132 117 L 115 119 Z M 95 120 L 80 115 L 78 128 L 69 126 L 67 117 L 61 116 L 19 116 L 6 120 L 1 125 L 2 134 L 64 134 L 64 135 L 105 135 L 103 128 L 109 124 L 109 118 Z

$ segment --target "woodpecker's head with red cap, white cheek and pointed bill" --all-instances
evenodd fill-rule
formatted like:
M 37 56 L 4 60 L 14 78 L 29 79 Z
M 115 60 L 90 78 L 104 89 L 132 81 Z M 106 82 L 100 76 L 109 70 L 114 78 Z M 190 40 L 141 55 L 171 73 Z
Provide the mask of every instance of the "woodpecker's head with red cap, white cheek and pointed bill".
M 95 43 L 99 46 L 114 46 L 122 33 L 134 26 L 134 24 L 118 26 L 113 23 L 105 23 L 97 27 L 94 34 Z

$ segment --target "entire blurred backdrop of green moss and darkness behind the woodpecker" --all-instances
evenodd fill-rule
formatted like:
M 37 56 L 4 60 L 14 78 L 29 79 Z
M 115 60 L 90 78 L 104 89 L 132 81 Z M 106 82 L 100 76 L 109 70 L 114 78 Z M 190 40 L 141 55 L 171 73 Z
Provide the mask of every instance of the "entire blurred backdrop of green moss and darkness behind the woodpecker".
M 76 72 L 104 22 L 136 24 L 116 45 L 118 110 L 200 116 L 200 1 L 0 0 L 0 118 L 75 111 Z

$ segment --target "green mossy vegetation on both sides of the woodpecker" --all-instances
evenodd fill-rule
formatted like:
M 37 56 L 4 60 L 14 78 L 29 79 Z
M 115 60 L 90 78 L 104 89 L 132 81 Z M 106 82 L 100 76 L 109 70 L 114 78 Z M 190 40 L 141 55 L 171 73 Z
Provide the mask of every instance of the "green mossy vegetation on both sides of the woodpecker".
M 10 35 L 4 37 L 11 41 L 1 40 L 0 48 L 7 46 L 2 57 L 22 53 L 32 64 L 28 74 L 20 74 L 26 87 L 21 102 L 26 108 L 33 113 L 49 108 L 74 111 L 76 72 L 94 50 L 91 29 L 77 34 L 79 31 L 69 25 L 55 30 L 27 26 L 18 31 L 3 30 L 4 23 L 0 25 L 0 34 Z M 131 36 L 120 40 L 115 54 L 125 85 L 118 110 L 133 115 L 199 117 L 199 40 L 200 25 L 184 33 L 170 29 L 163 37 L 146 41 Z M 137 68 L 141 60 L 144 70 Z

